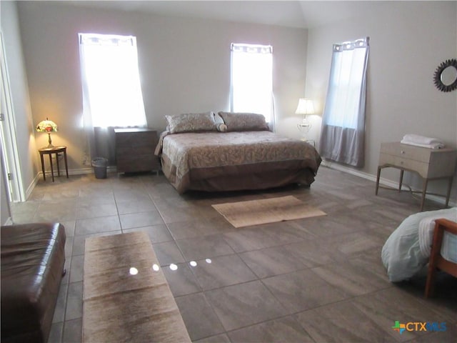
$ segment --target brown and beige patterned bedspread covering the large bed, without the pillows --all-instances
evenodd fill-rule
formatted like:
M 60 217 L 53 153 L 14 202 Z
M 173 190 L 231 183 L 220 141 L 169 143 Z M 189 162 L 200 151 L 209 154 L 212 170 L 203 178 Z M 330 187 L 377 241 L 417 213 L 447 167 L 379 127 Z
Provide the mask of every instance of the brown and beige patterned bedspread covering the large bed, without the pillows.
M 188 189 L 262 189 L 288 183 L 311 184 L 321 156 L 310 144 L 271 131 L 204 132 L 165 136 L 161 161 L 164 174 L 182 193 Z M 275 173 L 278 182 L 272 179 Z M 262 175 L 268 180 L 263 180 Z M 233 179 L 243 177 L 251 178 L 254 184 L 237 183 Z M 230 178 L 233 180 L 228 188 L 219 187 L 221 181 Z

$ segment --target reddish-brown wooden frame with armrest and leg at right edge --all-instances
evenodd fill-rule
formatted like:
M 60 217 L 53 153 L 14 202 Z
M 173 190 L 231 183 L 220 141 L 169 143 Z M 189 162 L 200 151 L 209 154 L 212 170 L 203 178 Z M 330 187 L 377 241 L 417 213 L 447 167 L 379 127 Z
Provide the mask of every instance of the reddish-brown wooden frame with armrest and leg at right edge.
M 433 295 L 436 269 L 457 277 L 457 263 L 449 262 L 441 256 L 441 243 L 443 242 L 444 232 L 457 235 L 457 223 L 448 219 L 436 219 L 435 230 L 433 232 L 433 243 L 431 246 L 430 261 L 428 262 L 428 274 L 426 282 L 425 297 Z

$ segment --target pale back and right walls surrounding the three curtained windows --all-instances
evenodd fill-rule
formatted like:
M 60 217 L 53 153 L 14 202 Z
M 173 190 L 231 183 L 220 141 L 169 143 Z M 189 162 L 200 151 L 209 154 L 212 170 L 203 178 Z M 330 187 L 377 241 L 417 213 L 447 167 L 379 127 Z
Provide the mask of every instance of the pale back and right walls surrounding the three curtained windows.
M 70 169 L 86 167 L 77 34 L 93 31 L 137 37 L 146 114 L 149 126 L 159 130 L 165 114 L 229 109 L 231 42 L 273 45 L 277 131 L 298 138 L 297 99 L 306 89 L 318 111 L 323 108 L 331 45 L 370 36 L 366 166 L 361 172 L 375 175 L 381 142 L 398 141 L 406 133 L 437 136 L 456 146 L 457 91 L 443 93 L 433 85 L 436 66 L 456 57 L 456 1 L 373 1 L 371 7 L 370 17 L 307 31 L 21 1 L 33 121 L 54 119 L 60 130 L 53 141 L 69 146 Z M 320 117 L 312 121 L 311 138 L 318 141 Z M 46 145 L 46 135 L 36 134 L 36 141 Z M 33 164 L 31 174 L 37 170 Z M 382 176 L 398 180 L 393 170 L 385 169 Z M 406 182 L 421 187 L 417 177 L 406 177 Z M 442 193 L 445 186 L 432 182 L 430 189 Z

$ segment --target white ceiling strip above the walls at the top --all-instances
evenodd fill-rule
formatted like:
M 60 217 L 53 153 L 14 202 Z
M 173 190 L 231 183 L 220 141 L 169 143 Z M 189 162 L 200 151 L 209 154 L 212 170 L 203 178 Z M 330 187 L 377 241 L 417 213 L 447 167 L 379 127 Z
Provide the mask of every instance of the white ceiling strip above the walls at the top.
M 167 16 L 219 19 L 311 28 L 370 14 L 391 1 L 68 1 L 74 6 L 142 11 Z

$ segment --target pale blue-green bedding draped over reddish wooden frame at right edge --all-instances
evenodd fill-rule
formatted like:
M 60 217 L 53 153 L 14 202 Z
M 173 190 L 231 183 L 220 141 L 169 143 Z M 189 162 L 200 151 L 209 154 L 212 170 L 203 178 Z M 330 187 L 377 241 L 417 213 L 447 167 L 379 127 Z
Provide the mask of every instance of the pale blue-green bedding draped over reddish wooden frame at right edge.
M 420 212 L 407 217 L 383 246 L 381 259 L 391 282 L 401 282 L 423 271 L 431 253 L 436 219 L 457 222 L 457 207 Z M 457 236 L 445 232 L 441 256 L 457 263 Z

